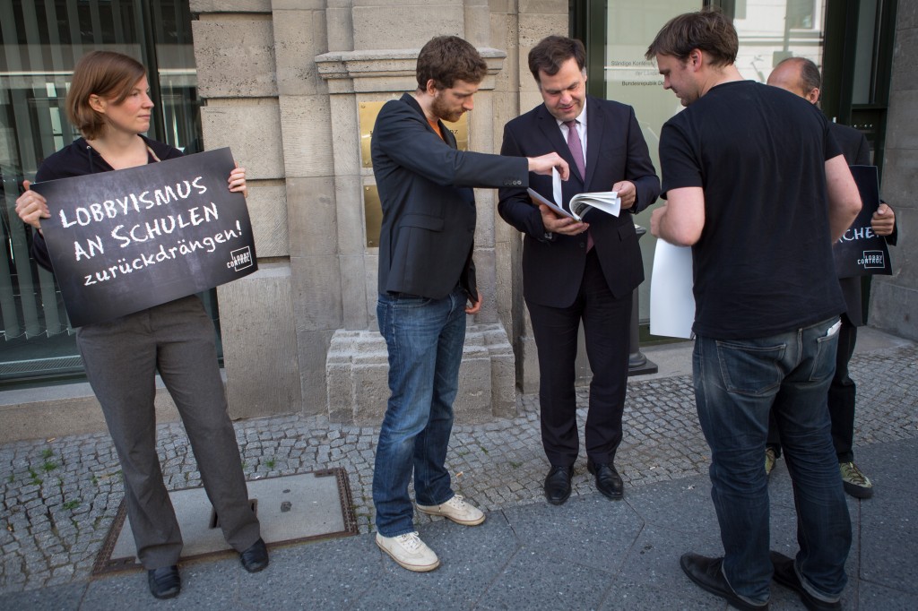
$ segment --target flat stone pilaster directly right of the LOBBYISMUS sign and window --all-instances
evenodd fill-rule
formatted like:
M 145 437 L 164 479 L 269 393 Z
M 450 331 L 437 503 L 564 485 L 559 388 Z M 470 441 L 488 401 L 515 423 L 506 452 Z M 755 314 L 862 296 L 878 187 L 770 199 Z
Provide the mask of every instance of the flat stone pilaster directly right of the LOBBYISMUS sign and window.
M 259 271 L 218 288 L 231 417 L 302 409 L 291 299 L 285 160 L 267 0 L 192 0 L 205 148 L 247 170 Z

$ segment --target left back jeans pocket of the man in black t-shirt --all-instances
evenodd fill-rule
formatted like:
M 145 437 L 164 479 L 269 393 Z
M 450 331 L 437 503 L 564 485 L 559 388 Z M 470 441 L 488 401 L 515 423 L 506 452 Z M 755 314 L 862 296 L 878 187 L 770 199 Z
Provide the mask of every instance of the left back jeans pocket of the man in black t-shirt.
M 756 346 L 718 340 L 717 360 L 727 391 L 752 396 L 774 392 L 783 379 L 780 361 L 785 350 L 787 344 Z

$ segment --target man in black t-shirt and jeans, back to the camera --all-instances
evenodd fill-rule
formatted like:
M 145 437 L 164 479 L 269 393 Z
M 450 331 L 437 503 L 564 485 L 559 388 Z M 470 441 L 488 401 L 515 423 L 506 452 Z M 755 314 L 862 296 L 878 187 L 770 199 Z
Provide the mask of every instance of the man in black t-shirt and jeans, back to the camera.
M 860 197 L 823 113 L 744 81 L 738 47 L 729 19 L 709 11 L 672 19 L 646 54 L 688 106 L 661 131 L 667 204 L 651 230 L 692 247 L 695 399 L 724 550 L 680 564 L 741 609 L 767 608 L 772 575 L 808 608 L 835 609 L 851 523 L 825 398 L 845 310 L 832 245 Z M 769 554 L 762 456 L 772 409 L 797 508 L 793 560 Z

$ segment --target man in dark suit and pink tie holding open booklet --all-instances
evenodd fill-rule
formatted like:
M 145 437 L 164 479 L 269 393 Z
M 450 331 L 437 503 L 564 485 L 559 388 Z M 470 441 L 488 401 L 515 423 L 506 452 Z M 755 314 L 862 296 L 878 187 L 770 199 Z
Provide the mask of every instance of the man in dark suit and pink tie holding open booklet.
M 593 211 L 587 222 L 533 206 L 521 185 L 500 189 L 498 211 L 525 234 L 523 296 L 539 353 L 542 440 L 551 469 L 545 497 L 561 505 L 571 490 L 577 461 L 574 390 L 581 320 L 593 380 L 586 426 L 588 470 L 599 492 L 623 494 L 615 469 L 628 376 L 632 292 L 644 281 L 644 264 L 631 214 L 654 203 L 660 181 L 631 106 L 589 97 L 586 51 L 576 39 L 550 36 L 529 54 L 529 68 L 544 104 L 510 121 L 504 155 L 561 151 L 571 168 L 566 204 L 579 193 L 616 191 L 622 214 Z M 585 153 L 585 154 L 584 154 Z M 530 176 L 533 190 L 552 199 L 552 180 Z

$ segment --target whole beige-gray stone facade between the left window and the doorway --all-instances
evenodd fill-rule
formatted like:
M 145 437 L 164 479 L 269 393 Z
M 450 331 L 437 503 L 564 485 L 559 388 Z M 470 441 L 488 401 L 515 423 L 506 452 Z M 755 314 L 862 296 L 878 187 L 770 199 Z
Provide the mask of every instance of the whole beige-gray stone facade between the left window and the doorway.
M 566 30 L 567 3 L 192 0 L 191 8 L 205 145 L 231 147 L 248 170 L 261 268 L 218 290 L 230 413 L 378 419 L 385 345 L 375 323 L 378 253 L 364 230 L 373 173 L 361 164 L 358 105 L 413 90 L 420 47 L 435 35 L 462 36 L 491 65 L 469 117 L 470 148 L 497 152 L 504 123 L 541 101 L 520 58 Z M 534 355 L 520 236 L 499 219 L 494 190 L 476 199 L 486 301 L 469 320 L 475 340 L 457 400 L 468 421 L 512 415 L 523 368 L 510 338 L 522 338 L 518 357 Z M 526 378 L 537 379 L 534 357 L 524 361 Z

